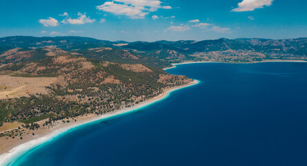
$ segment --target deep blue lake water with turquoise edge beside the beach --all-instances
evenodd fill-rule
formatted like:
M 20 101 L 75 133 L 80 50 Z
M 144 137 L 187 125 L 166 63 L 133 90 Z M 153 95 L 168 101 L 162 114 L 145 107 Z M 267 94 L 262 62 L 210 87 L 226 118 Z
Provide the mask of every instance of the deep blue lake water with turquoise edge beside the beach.
M 307 165 L 307 63 L 185 64 L 201 83 L 79 127 L 12 165 Z

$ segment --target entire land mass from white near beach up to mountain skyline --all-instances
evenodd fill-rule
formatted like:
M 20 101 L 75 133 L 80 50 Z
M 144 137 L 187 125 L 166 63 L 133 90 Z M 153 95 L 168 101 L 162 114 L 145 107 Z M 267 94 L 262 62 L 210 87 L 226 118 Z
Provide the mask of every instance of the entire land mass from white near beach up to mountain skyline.
M 164 71 L 172 64 L 307 59 L 307 38 L 129 43 L 15 36 L 0 41 L 1 159 L 197 84 Z

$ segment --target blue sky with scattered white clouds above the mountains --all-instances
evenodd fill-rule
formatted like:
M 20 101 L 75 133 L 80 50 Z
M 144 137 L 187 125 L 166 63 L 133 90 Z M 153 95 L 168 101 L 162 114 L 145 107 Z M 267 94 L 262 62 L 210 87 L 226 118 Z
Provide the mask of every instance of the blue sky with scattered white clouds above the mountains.
M 307 37 L 306 0 L 1 0 L 0 37 L 111 41 Z

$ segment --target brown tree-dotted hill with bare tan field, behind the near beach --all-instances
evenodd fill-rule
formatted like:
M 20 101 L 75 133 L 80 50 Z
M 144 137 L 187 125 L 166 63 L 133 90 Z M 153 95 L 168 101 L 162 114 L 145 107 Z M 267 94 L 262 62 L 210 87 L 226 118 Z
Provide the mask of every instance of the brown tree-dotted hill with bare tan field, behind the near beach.
M 123 64 L 75 55 L 50 55 L 0 67 L 0 127 L 43 119 L 68 120 L 103 114 L 154 98 L 164 89 L 192 82 L 143 64 Z

